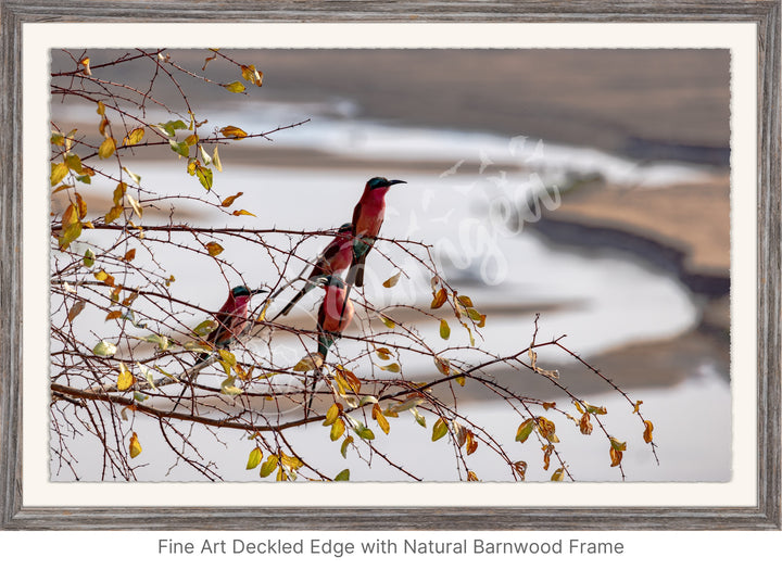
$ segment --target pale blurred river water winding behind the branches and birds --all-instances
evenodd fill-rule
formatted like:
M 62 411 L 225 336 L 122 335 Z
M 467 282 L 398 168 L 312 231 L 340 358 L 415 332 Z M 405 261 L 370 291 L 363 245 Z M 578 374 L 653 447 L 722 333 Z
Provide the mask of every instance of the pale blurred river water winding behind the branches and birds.
M 252 212 L 255 217 L 215 216 L 211 211 L 187 205 L 176 214 L 175 220 L 215 227 L 243 225 L 325 230 L 350 220 L 353 205 L 368 178 L 402 178 L 407 185 L 394 187 L 388 195 L 382 236 L 404 237 L 433 245 L 434 257 L 444 276 L 461 294 L 469 295 L 477 307 L 487 313 L 480 344 L 493 353 L 509 354 L 529 344 L 537 307 L 543 307 L 539 309 L 539 339 L 567 334 L 567 346 L 585 359 L 633 343 L 676 339 L 699 322 L 698 300 L 674 276 L 627 253 L 595 251 L 578 248 L 578 244 L 567 248 L 552 244 L 530 231 L 535 216 L 527 208 L 529 200 L 535 195 L 542 199 L 541 207 L 556 207 L 558 200 L 567 199 L 557 189 L 564 188 L 573 177 L 600 176 L 635 191 L 654 191 L 666 183 L 697 180 L 703 176 L 698 166 L 639 164 L 594 149 L 555 145 L 525 137 L 507 139 L 491 134 L 382 125 L 354 118 L 351 104 L 345 101 L 313 103 L 304 107 L 283 102 L 265 104 L 243 115 L 252 118 L 248 118 L 242 128 L 248 131 L 268 129 L 269 125 L 285 125 L 304 115 L 312 121 L 277 134 L 270 147 L 278 152 L 290 151 L 294 156 L 327 152 L 338 157 L 358 157 L 363 164 L 344 166 L 339 163 L 335 167 L 321 164 L 307 167 L 306 163 L 303 167 L 251 164 L 232 162 L 229 149 L 224 153 L 224 172 L 215 173 L 214 189 L 222 198 L 243 192 L 235 206 Z M 231 122 L 230 115 L 222 116 L 219 110 L 211 116 L 216 125 Z M 237 144 L 257 148 L 258 153 L 269 145 L 253 140 Z M 391 163 L 393 170 L 389 167 Z M 422 163 L 442 166 L 432 172 L 419 167 Z M 408 167 L 405 169 L 400 164 Z M 133 170 L 141 175 L 147 188 L 153 191 L 169 194 L 203 191 L 195 178 L 185 174 L 184 161 L 178 164 L 175 160 L 171 163 L 134 162 Z M 166 219 L 168 212 L 155 214 L 149 210 L 144 213 L 148 225 Z M 524 223 L 519 224 L 519 219 Z M 300 254 L 314 257 L 327 240 L 307 240 Z M 370 257 L 374 267 L 365 288 L 367 299 L 376 306 L 428 303 L 431 299 L 429 276 L 411 270 L 411 277 L 402 279 L 398 287 L 387 289 L 381 286 L 395 273 L 382 254 L 394 256 L 398 251 L 383 242 L 378 243 L 377 250 Z M 237 263 L 243 279 L 251 286 L 273 281 L 273 267 L 256 262 L 252 251 L 237 245 L 230 251 L 227 248 L 225 255 Z M 206 309 L 222 303 L 226 281 L 212 271 L 209 261 L 185 265 L 175 252 L 165 250 L 156 261 L 176 275 L 172 286 L 176 295 L 195 300 Z M 300 268 L 292 269 L 298 273 Z M 316 308 L 317 295 L 311 293 L 297 311 L 305 315 Z M 203 315 L 193 315 L 192 325 L 203 318 Z M 422 337 L 438 338 L 436 324 L 421 321 L 416 325 Z M 458 332 L 454 330 L 454 335 Z M 265 340 L 258 340 L 249 346 L 264 352 L 269 350 L 265 343 Z M 355 352 L 345 341 L 340 343 L 339 350 L 345 356 Z M 274 351 L 277 354 L 288 351 L 292 362 L 301 356 L 298 346 L 275 345 Z M 693 356 L 693 362 L 698 360 L 697 356 Z M 556 350 L 541 351 L 540 358 L 539 364 L 544 368 L 557 368 L 572 362 L 567 354 Z M 426 378 L 431 375 L 432 366 L 428 358 L 411 358 L 405 363 L 405 370 L 408 378 Z M 358 368 L 356 372 L 366 370 Z M 610 375 L 610 371 L 606 372 Z M 627 370 L 618 372 L 615 379 L 621 384 L 620 375 Z M 567 383 L 567 379 L 564 382 Z M 606 406 L 609 411 L 617 410 L 609 413 L 606 425 L 610 433 L 621 434 L 620 439 L 628 441 L 629 452 L 625 455 L 623 466 L 629 480 L 730 479 L 731 425 L 726 418 L 731 414 L 731 395 L 728 378 L 720 366 L 704 362 L 686 370 L 685 379 L 674 385 L 634 387 L 631 396 L 644 402 L 644 413 L 655 422 L 660 465 L 655 464 L 648 446 L 641 440 L 642 428 L 626 402 L 608 387 L 604 390 L 593 388 L 590 395 L 591 402 Z M 565 397 L 562 402 L 566 404 L 568 400 Z M 470 398 L 459 410 L 478 423 L 492 426 L 490 431 L 504 434 L 499 435 L 499 441 L 530 464 L 530 480 L 550 477 L 540 466 L 539 451 L 522 449 L 520 444 L 513 442 L 518 421 L 506 406 Z M 685 428 L 686 441 L 680 436 Z M 139 417 L 134 429 L 144 442 L 144 457 L 149 461 L 138 471 L 142 480 L 194 478 L 185 466 L 169 469 L 173 457 L 159 440 L 155 421 Z M 220 470 L 224 479 L 257 480 L 254 471 L 244 470 L 243 461 L 251 445 L 241 434 L 230 433 L 216 441 L 198 427 L 192 433 L 200 442 L 200 452 L 224 466 Z M 576 430 L 565 433 L 567 436 L 560 436 L 563 441 L 557 448 L 568 458 L 578 480 L 618 479 L 616 469 L 607 466 L 605 440 L 596 434 L 583 438 Z M 376 440 L 376 443 L 379 449 L 398 456 L 404 449 L 405 465 L 414 466 L 415 472 L 427 480 L 452 480 L 456 464 L 451 447 L 443 441 L 438 442 L 440 445 L 430 442 L 429 431 L 422 430 L 411 416 L 394 420 L 391 435 Z M 715 446 L 715 441 L 724 443 Z M 409 442 L 420 444 L 411 445 Z M 326 428 L 302 429 L 292 435 L 291 443 L 304 456 L 316 455 L 325 472 L 336 473 L 344 467 L 339 444 L 328 440 Z M 85 453 L 89 448 L 84 441 L 75 442 L 75 446 L 84 447 Z M 482 480 L 508 479 L 507 467 L 493 459 L 485 449 L 475 457 Z M 61 473 L 53 479 L 66 476 Z M 87 473 L 83 480 L 93 477 L 94 473 Z M 386 468 L 381 461 L 373 461 L 371 467 L 361 461 L 351 466 L 352 480 L 399 478 L 399 471 Z

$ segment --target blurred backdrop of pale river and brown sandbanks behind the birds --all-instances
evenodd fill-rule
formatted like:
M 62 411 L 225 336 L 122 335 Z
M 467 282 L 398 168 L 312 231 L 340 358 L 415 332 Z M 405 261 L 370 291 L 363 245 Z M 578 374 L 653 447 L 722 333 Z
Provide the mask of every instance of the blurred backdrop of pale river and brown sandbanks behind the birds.
M 540 313 L 539 340 L 566 334 L 564 343 L 570 350 L 633 400 L 644 402 L 642 409 L 655 425 L 659 466 L 627 402 L 568 355 L 541 352 L 541 367 L 558 369 L 563 383 L 576 394 L 608 408 L 609 432 L 628 441 L 628 479 L 730 480 L 727 50 L 226 54 L 253 63 L 264 73 L 264 86 L 244 96 L 195 80 L 185 83 L 197 118 L 210 121 L 204 128 L 235 125 L 262 132 L 307 121 L 273 135 L 273 140 L 247 139 L 220 148 L 224 172 L 215 173 L 214 189 L 224 198 L 244 192 L 236 205 L 256 217 L 241 219 L 242 224 L 337 228 L 350 220 L 366 180 L 406 180 L 388 195 L 381 233 L 434 246 L 446 279 L 488 315 L 483 346 L 507 354 L 529 345 L 534 315 Z M 117 52 L 93 50 L 89 55 L 94 65 Z M 179 50 L 171 55 L 200 69 L 211 54 Z M 62 53 L 52 54 L 53 72 L 72 67 Z M 237 79 L 234 71 L 225 77 L 220 73 L 214 63 L 206 67 L 217 81 Z M 117 79 L 146 85 L 149 67 L 126 64 Z M 159 80 L 156 89 L 163 98 L 173 87 Z M 62 104 L 56 98 L 51 115 L 63 131 L 94 130 L 98 121 L 93 105 Z M 160 121 L 168 118 L 173 117 L 162 114 Z M 185 162 L 177 164 L 167 150 L 140 152 L 130 167 L 152 190 L 202 190 L 195 178 L 185 175 Z M 103 200 L 108 210 L 111 190 L 92 191 L 91 197 L 85 194 L 88 203 Z M 148 215 L 154 219 L 155 213 L 144 213 L 144 220 Z M 164 223 L 169 213 L 157 215 Z M 176 217 L 237 225 L 236 218 L 215 219 L 187 205 Z M 313 242 L 312 251 L 302 254 L 314 256 L 321 246 Z M 378 248 L 391 251 L 383 244 Z M 384 289 L 380 283 L 393 275 L 393 267 L 383 265 L 378 254 L 370 262 L 375 267 L 367 297 L 378 304 L 428 305 L 428 283 Z M 248 282 L 269 281 L 264 271 L 250 263 L 243 275 Z M 198 264 L 177 266 L 172 287 L 184 297 L 216 308 L 226 283 L 219 276 L 212 281 L 204 275 Z M 302 319 L 316 303 L 315 295 L 302 302 Z M 200 319 L 194 316 L 193 322 Z M 420 324 L 425 335 L 437 338 L 432 327 Z M 416 373 L 415 368 L 407 371 Z M 426 363 L 418 373 L 425 380 L 432 371 Z M 508 385 L 520 384 L 529 395 L 565 404 L 569 400 L 538 377 L 500 369 L 494 373 Z M 469 410 L 477 421 L 496 422 L 508 432 L 508 445 L 518 446 L 513 443 L 517 417 L 504 417 L 479 394 L 467 394 L 461 410 Z M 414 421 L 404 429 L 409 438 L 421 438 Z M 320 435 L 324 442 L 304 433 L 301 445 L 313 453 L 318 446 L 337 445 L 328 442 L 327 432 Z M 395 435 L 404 440 L 402 433 Z M 570 459 L 578 480 L 618 478 L 607 467 L 604 440 L 577 431 L 560 439 L 557 448 Z M 218 444 L 210 453 L 219 461 L 220 454 L 230 455 L 228 447 Z M 447 448 L 437 449 L 434 444 L 416 453 L 431 464 L 424 473 L 432 480 L 441 477 L 439 461 L 454 460 Z M 526 453 L 528 477 L 547 479 L 539 452 Z M 329 454 L 339 456 L 336 449 Z M 229 468 L 226 479 L 247 479 L 241 461 L 231 460 L 236 470 Z M 151 466 L 144 472 L 149 480 L 188 477 L 167 466 Z M 367 468 L 352 472 L 351 479 L 393 477 Z M 484 480 L 493 477 L 489 468 L 481 471 Z

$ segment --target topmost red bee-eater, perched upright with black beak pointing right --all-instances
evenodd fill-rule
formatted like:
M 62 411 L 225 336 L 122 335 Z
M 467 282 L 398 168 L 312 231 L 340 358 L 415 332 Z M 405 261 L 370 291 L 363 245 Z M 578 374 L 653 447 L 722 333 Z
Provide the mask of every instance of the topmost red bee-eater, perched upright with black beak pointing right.
M 376 177 L 364 187 L 358 203 L 353 208 L 353 263 L 348 271 L 348 282 L 364 287 L 364 265 L 366 256 L 375 245 L 375 240 L 386 216 L 386 193 L 393 185 L 406 183 L 404 180 L 388 180 Z

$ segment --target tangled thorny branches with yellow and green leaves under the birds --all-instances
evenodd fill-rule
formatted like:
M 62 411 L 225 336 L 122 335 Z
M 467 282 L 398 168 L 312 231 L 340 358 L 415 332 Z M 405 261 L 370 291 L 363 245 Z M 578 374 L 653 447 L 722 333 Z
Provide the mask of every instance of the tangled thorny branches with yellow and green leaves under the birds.
M 312 315 L 306 322 L 301 312 L 268 315 L 272 307 L 279 312 L 279 300 L 303 286 L 318 263 L 300 252 L 313 241 L 336 239 L 337 228 L 211 227 L 174 219 L 182 201 L 218 216 L 252 219 L 254 214 L 240 207 L 243 192 L 226 195 L 216 188 L 215 170 L 223 169 L 218 149 L 306 128 L 307 121 L 265 132 L 234 125 L 206 132 L 207 119 L 188 94 L 193 81 L 227 97 L 248 96 L 263 81 L 254 64 L 219 50 L 209 50 L 195 69 L 166 50 L 63 54 L 70 67 L 52 74 L 52 97 L 61 104 L 88 105 L 94 119 L 80 131 L 52 117 L 53 473 L 65 470 L 73 479 L 81 478 L 83 457 L 72 442 L 87 439 L 96 443 L 90 447 L 96 457 L 102 457 L 100 479 L 139 479 L 146 465 L 163 460 L 146 457 L 143 445 L 152 435 L 147 430 L 142 436 L 138 427 L 146 418 L 143 425 L 156 426 L 174 457 L 169 470 L 185 465 L 205 480 L 223 479 L 223 466 L 204 456 L 193 435 L 197 429 L 205 430 L 199 436 L 218 441 L 225 432 L 243 433 L 247 444 L 236 456 L 261 478 L 348 480 L 356 463 L 373 468 L 379 461 L 402 480 L 421 481 L 421 466 L 408 456 L 413 443 L 387 444 L 404 431 L 396 429 L 403 418 L 412 418 L 426 430 L 421 442 L 450 446 L 454 479 L 480 480 L 481 466 L 492 457 L 504 466 L 505 479 L 524 481 L 528 463 L 522 457 L 532 453 L 526 442 L 537 441 L 550 479 L 575 480 L 557 444 L 568 426 L 568 436 L 581 436 L 590 435 L 594 425 L 606 440 L 607 464 L 623 479 L 627 445 L 603 421 L 606 408 L 585 402 L 555 370 L 540 366 L 538 351 L 543 347 L 569 355 L 619 392 L 656 457 L 653 425 L 641 415 L 641 402 L 563 344 L 563 337 L 539 342 L 538 317 L 528 345 L 510 355 L 492 353 L 483 346 L 482 331 L 490 324 L 479 300 L 454 290 L 437 267 L 432 249 L 404 236 L 373 241 L 373 255 L 395 268 L 382 288 L 424 277 L 431 297 L 382 304 L 363 288 L 349 288 L 356 316 L 350 328 L 329 337 L 331 350 L 324 355 L 324 331 Z M 219 73 L 236 78 L 207 77 L 206 67 L 217 71 L 217 65 L 223 66 Z M 135 66 L 133 74 L 122 73 L 129 66 Z M 118 79 L 125 75 L 136 83 Z M 202 191 L 166 192 L 142 182 L 131 166 L 144 153 L 168 154 L 172 167 L 194 177 Z M 109 205 L 96 213 L 101 203 Z M 150 211 L 168 211 L 168 221 L 147 224 Z M 269 268 L 265 293 L 257 292 L 261 283 L 244 281 L 245 261 L 234 253 L 238 251 L 252 251 L 253 264 Z M 175 267 L 195 263 L 207 264 L 230 291 L 222 309 L 211 300 L 186 299 L 178 292 Z M 320 294 L 319 287 L 315 289 L 313 297 Z M 436 339 L 425 329 L 436 331 Z M 428 372 L 416 368 L 420 363 L 429 363 Z M 544 379 L 565 403 L 519 393 L 492 376 L 497 367 L 519 378 Z M 504 406 L 517 419 L 510 443 L 496 427 L 464 410 L 467 390 Z M 291 436 L 316 426 L 339 442 L 342 470 L 328 471 L 324 465 L 329 461 L 301 452 L 301 439 Z

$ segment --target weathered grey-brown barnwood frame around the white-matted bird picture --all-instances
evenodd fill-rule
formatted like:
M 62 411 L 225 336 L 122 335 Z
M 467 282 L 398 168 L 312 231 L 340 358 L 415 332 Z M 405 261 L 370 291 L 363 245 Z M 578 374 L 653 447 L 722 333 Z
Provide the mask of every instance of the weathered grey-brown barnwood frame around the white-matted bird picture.
M 780 1 L 7 1 L 0 159 L 0 528 L 780 529 Z M 754 22 L 758 28 L 758 497 L 747 508 L 29 508 L 22 504 L 21 25 L 26 22 Z M 27 379 L 40 380 L 40 379 Z

